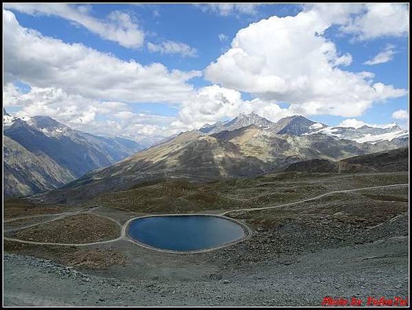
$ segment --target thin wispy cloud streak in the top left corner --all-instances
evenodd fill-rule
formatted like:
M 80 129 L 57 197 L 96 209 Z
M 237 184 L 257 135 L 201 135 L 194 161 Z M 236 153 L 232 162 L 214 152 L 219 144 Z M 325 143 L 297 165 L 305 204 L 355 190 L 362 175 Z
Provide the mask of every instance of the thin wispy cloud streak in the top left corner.
M 45 14 L 60 16 L 77 23 L 101 38 L 119 43 L 123 47 L 139 48 L 144 44 L 144 32 L 126 12 L 114 11 L 108 14 L 106 21 L 100 21 L 89 15 L 90 5 L 69 5 L 64 3 L 5 3 L 4 8 L 18 10 L 27 14 Z

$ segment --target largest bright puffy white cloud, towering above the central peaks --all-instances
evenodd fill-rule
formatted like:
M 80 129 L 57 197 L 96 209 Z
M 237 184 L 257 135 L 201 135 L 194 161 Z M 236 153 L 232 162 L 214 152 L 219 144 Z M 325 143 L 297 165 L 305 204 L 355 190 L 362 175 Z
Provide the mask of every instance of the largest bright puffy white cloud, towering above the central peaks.
M 290 110 L 304 115 L 356 117 L 374 102 L 407 94 L 373 83 L 373 73 L 341 69 L 352 57 L 339 55 L 323 36 L 328 27 L 317 10 L 252 23 L 240 29 L 229 51 L 209 64 L 205 77 L 265 101 L 290 103 Z

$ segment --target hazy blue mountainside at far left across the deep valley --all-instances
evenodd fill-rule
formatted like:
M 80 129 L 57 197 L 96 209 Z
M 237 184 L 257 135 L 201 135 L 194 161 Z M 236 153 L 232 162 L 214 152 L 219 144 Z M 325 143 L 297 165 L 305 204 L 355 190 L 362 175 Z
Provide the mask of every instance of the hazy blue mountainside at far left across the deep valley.
M 4 126 L 3 134 L 10 138 L 8 153 L 5 154 L 4 159 L 5 162 L 8 162 L 9 172 L 14 175 L 14 178 L 19 179 L 21 184 L 27 184 L 33 193 L 58 187 L 93 169 L 122 160 L 143 148 L 139 143 L 128 139 L 95 136 L 73 130 L 50 117 L 36 116 L 20 119 L 4 114 L 3 124 L 7 125 Z M 14 156 L 13 147 L 17 146 L 23 147 L 24 150 L 19 150 L 19 152 L 24 152 L 25 156 L 30 157 L 29 154 L 32 154 L 32 158 L 36 158 L 36 165 L 39 167 L 41 166 L 41 158 L 47 162 L 45 163 L 47 167 L 51 167 L 50 163 L 52 162 L 56 165 L 56 169 L 65 171 L 65 178 L 54 178 L 54 176 L 48 175 L 50 170 L 41 169 L 43 172 L 39 170 L 36 173 L 42 174 L 44 180 L 51 181 L 49 184 L 43 182 L 43 187 L 34 185 L 31 181 L 34 176 L 29 176 L 29 174 L 32 171 L 34 174 L 35 169 L 33 165 L 30 166 L 28 163 L 25 174 L 20 174 L 18 177 L 25 162 L 17 163 L 16 160 L 8 158 L 8 156 Z M 8 180 L 12 180 L 12 178 L 5 181 Z M 6 184 L 6 182 L 4 188 L 11 187 L 11 184 Z M 13 195 L 17 195 L 18 192 L 18 190 L 14 191 Z M 20 193 L 25 195 L 28 192 L 30 191 L 25 189 Z

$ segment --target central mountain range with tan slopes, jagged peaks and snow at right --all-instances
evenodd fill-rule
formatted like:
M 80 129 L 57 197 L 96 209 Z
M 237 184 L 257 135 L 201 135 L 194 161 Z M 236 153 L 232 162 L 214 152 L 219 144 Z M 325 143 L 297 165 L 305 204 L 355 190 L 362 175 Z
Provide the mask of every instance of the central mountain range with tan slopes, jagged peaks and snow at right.
M 249 178 L 283 171 L 290 164 L 304 160 L 334 162 L 407 147 L 409 143 L 407 135 L 359 143 L 318 132 L 321 126 L 328 126 L 314 124 L 319 123 L 301 116 L 273 123 L 255 113 L 239 115 L 226 123 L 182 132 L 118 163 L 91 171 L 58 191 L 36 195 L 36 198 L 54 203 L 77 204 L 100 193 L 129 189 L 151 180 Z M 222 128 L 225 130 L 218 132 Z M 391 128 L 381 129 L 371 128 L 368 134 L 391 132 Z M 365 135 L 359 133 L 362 134 Z

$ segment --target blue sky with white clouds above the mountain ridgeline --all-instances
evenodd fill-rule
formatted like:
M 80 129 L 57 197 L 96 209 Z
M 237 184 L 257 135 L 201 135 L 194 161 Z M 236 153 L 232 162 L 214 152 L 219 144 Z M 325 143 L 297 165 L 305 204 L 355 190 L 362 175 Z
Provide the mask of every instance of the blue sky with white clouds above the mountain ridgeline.
M 3 3 L 3 106 L 137 141 L 240 112 L 409 126 L 409 4 Z

